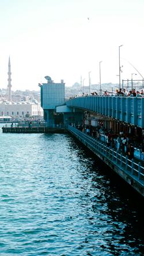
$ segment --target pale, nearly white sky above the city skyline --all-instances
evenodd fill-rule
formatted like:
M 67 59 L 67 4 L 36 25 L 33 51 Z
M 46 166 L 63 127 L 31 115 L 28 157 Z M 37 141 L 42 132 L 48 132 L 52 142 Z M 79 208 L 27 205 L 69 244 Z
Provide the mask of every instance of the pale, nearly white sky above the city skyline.
M 0 0 L 0 88 L 38 89 L 44 76 L 66 86 L 144 76 L 143 0 Z M 89 20 L 88 20 L 89 18 Z M 130 62 L 130 63 L 128 63 Z M 133 77 L 133 78 L 136 78 Z M 137 73 L 137 79 L 142 77 Z

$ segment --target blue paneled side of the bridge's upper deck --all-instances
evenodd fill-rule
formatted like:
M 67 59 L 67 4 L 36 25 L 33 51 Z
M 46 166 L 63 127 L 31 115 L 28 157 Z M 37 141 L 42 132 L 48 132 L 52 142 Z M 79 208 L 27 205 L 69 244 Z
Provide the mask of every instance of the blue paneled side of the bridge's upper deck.
M 144 128 L 144 97 L 77 97 L 66 101 L 66 105 L 93 111 Z

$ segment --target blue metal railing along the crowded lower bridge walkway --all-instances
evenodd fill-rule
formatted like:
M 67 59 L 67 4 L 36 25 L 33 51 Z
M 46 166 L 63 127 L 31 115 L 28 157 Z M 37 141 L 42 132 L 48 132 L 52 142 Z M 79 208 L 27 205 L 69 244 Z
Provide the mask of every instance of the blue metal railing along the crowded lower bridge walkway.
M 144 186 L 144 167 L 141 162 L 138 163 L 134 159 L 128 159 L 127 156 L 122 155 L 118 150 L 115 151 L 114 149 L 108 148 L 103 142 L 96 138 L 92 138 L 90 135 L 82 133 L 82 131 L 79 131 L 70 125 L 67 129 L 74 135 L 77 135 L 82 142 L 85 142 L 88 148 L 93 149 L 93 151 L 96 150 L 102 157 L 107 157 L 107 159 L 111 160 L 113 164 L 121 168 L 124 172 L 128 172 L 133 179 L 137 179 L 139 182 L 141 181 Z

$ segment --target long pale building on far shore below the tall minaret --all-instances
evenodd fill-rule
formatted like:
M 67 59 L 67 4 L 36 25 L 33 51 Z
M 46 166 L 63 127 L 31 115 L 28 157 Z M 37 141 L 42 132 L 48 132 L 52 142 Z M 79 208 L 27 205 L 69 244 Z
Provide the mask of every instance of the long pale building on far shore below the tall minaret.
M 0 103 L 0 116 L 12 116 L 13 118 L 26 116 L 43 116 L 43 108 L 40 103 L 21 101 L 18 103 Z

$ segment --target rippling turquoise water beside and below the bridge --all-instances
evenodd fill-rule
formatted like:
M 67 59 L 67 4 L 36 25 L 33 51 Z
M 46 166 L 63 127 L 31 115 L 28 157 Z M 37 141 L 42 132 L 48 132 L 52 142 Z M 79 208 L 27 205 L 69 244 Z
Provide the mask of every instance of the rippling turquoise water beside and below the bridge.
M 143 255 L 143 213 L 73 138 L 0 141 L 0 255 Z

